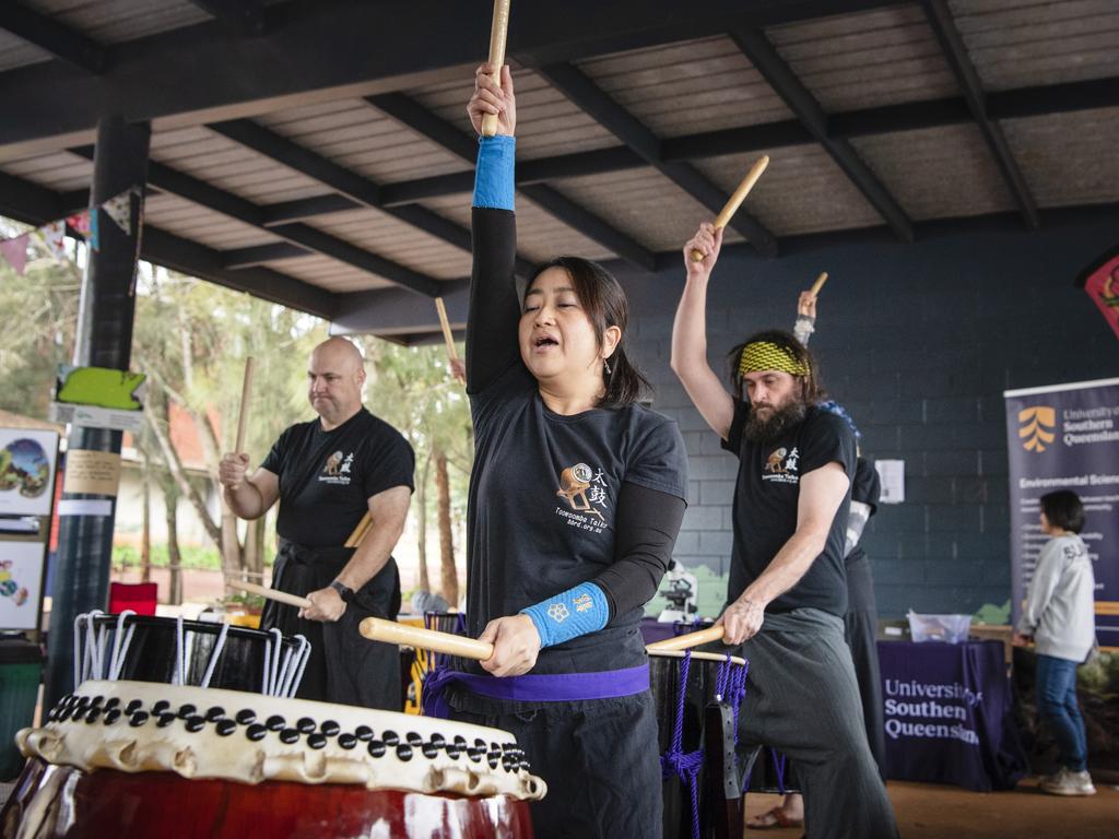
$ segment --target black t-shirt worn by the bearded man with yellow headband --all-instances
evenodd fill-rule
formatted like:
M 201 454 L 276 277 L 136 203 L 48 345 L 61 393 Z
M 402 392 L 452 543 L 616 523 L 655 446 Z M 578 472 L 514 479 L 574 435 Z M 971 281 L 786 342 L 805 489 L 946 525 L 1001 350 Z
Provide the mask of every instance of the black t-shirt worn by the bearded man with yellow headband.
M 848 479 L 855 474 L 855 435 L 835 414 L 810 407 L 803 422 L 767 443 L 745 439 L 742 430 L 749 416 L 749 403 L 737 402 L 731 431 L 723 441 L 723 447 L 739 456 L 728 601 L 761 576 L 796 532 L 800 477 L 833 461 L 844 468 Z M 770 603 L 767 611 L 811 607 L 840 616 L 846 612 L 843 555 L 849 508 L 848 488 L 831 521 L 824 553 L 800 582 Z

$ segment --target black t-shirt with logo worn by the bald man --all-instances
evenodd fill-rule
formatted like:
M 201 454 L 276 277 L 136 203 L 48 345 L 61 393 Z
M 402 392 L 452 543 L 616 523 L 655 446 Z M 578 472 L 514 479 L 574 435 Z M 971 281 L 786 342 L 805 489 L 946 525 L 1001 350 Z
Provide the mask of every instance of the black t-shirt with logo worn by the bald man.
M 280 479 L 276 531 L 307 547 L 345 544 L 393 487 L 413 489 L 415 455 L 396 428 L 365 408 L 332 431 L 319 420 L 286 428 L 261 464 Z

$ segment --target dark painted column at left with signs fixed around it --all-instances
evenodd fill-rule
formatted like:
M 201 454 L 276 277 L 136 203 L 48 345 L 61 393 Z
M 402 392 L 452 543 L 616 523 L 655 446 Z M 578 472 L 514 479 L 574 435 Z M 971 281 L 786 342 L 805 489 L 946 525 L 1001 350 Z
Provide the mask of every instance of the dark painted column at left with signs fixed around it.
M 137 194 L 132 198 L 132 224 L 128 233 L 107 214 L 97 210 L 101 247 L 88 251 L 82 283 L 74 346 L 74 362 L 78 366 L 129 369 L 135 313 L 138 219 L 148 178 L 150 139 L 147 123 L 129 124 L 119 116 L 106 116 L 97 124 L 90 206 L 98 207 L 128 189 L 137 188 Z M 72 427 L 68 450 L 119 454 L 121 432 Z M 64 501 L 106 498 L 63 494 Z M 109 516 L 64 516 L 59 520 L 46 673 L 47 707 L 74 688 L 74 619 L 83 612 L 107 607 L 115 512 L 116 500 L 112 499 Z

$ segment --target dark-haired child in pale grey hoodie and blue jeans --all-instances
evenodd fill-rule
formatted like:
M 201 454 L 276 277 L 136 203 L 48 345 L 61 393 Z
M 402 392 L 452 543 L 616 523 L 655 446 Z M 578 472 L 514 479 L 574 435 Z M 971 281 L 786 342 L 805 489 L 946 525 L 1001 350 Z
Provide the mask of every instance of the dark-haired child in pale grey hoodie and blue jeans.
M 1075 492 L 1041 498 L 1042 532 L 1052 538 L 1037 556 L 1014 643 L 1037 652 L 1037 710 L 1056 737 L 1061 766 L 1042 779 L 1054 795 L 1093 795 L 1084 720 L 1076 706 L 1076 667 L 1096 643 L 1092 560 L 1078 536 L 1084 508 Z

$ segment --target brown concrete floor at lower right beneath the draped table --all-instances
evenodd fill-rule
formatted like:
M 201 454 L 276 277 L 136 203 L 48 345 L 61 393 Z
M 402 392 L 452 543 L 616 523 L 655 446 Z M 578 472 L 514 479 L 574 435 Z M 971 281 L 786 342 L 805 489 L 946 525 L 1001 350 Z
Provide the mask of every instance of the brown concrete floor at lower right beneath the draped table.
M 1014 792 L 970 792 L 957 786 L 891 781 L 903 839 L 1116 839 L 1119 789 L 1097 782 L 1096 795 L 1059 798 L 1028 779 Z M 746 796 L 746 817 L 765 812 L 778 795 Z M 746 839 L 797 839 L 801 830 L 746 830 Z

